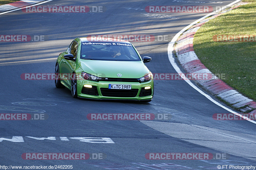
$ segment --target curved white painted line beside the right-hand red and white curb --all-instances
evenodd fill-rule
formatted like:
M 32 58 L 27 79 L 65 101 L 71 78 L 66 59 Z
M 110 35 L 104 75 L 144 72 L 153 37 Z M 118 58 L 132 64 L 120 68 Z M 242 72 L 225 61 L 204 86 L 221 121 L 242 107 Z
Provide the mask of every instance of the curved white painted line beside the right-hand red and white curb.
M 174 49 L 173 49 L 173 45 L 174 45 L 175 41 L 178 39 L 178 37 L 180 36 L 180 34 L 183 33 L 185 30 L 187 30 L 188 28 L 190 28 L 191 26 L 193 26 L 194 24 L 196 24 L 197 22 L 200 22 L 200 21 L 203 20 L 204 18 L 207 18 L 207 17 L 209 17 L 209 16 L 211 16 L 211 15 L 213 15 L 213 14 L 219 12 L 219 11 L 222 11 L 222 10 L 224 10 L 224 9 L 226 9 L 226 8 L 228 8 L 228 7 L 230 7 L 230 6 L 232 6 L 233 4 L 238 3 L 239 1 L 241 1 L 241 0 L 236 0 L 235 2 L 232 2 L 232 3 L 230 3 L 230 4 L 228 4 L 228 5 L 224 6 L 224 7 L 222 7 L 221 9 L 219 9 L 219 10 L 217 10 L 217 11 L 214 11 L 214 12 L 212 12 L 212 13 L 209 13 L 209 14 L 205 15 L 204 17 L 202 17 L 202 18 L 200 18 L 200 19 L 197 19 L 196 21 L 194 21 L 194 22 L 191 23 L 190 25 L 188 25 L 188 26 L 186 26 L 185 28 L 183 28 L 179 33 L 177 33 L 177 34 L 173 37 L 172 41 L 169 42 L 169 44 L 168 44 L 168 57 L 169 57 L 170 63 L 172 64 L 172 67 L 177 71 L 177 73 L 182 73 L 182 71 L 180 70 L 180 68 L 178 67 L 178 65 L 175 63 L 175 61 L 174 61 L 174 56 L 172 55 L 172 51 L 174 50 Z M 196 87 L 190 80 L 185 80 L 185 79 L 184 79 L 184 81 L 186 81 L 191 87 L 193 87 L 196 91 L 198 91 L 198 92 L 200 92 L 201 94 L 203 94 L 207 99 L 211 100 L 211 101 L 212 101 L 213 103 L 215 103 L 216 105 L 218 105 L 218 106 L 224 108 L 224 109 L 227 110 L 228 112 L 231 112 L 231 113 L 233 113 L 233 114 L 235 114 L 235 115 L 238 115 L 238 116 L 244 118 L 243 115 L 240 115 L 240 114 L 236 113 L 235 111 L 229 109 L 228 107 L 225 107 L 225 106 L 223 106 L 222 104 L 220 104 L 219 102 L 213 100 L 208 94 L 204 93 L 202 90 L 200 90 L 198 87 Z M 253 121 L 253 120 L 248 120 L 248 121 L 249 121 L 249 122 L 252 122 L 252 123 L 254 123 L 254 124 L 256 124 L 256 122 Z

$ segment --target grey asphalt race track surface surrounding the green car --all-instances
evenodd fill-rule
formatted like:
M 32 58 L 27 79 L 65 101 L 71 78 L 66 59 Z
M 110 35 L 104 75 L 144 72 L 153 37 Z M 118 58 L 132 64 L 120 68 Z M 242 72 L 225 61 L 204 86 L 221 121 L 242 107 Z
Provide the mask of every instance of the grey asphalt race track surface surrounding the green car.
M 233 1 L 84 1 L 53 0 L 42 5 L 103 6 L 103 12 L 0 15 L 1 35 L 39 35 L 44 41 L 0 42 L 0 113 L 45 114 L 47 120 L 1 120 L 0 165 L 72 165 L 73 169 L 218 169 L 220 165 L 256 165 L 255 124 L 217 121 L 229 113 L 183 80 L 154 80 L 154 98 L 136 101 L 74 99 L 52 80 L 22 80 L 22 73 L 54 73 L 57 56 L 76 37 L 153 35 L 158 41 L 134 41 L 150 56 L 152 73 L 175 73 L 167 47 L 176 33 L 207 13 L 147 13 L 149 5 L 225 6 Z M 161 41 L 167 36 L 168 41 Z M 205 92 L 207 93 L 207 92 Z M 207 93 L 209 94 L 209 93 Z M 211 95 L 211 94 L 209 94 Z M 225 104 L 222 103 L 225 106 Z M 92 113 L 172 115 L 157 121 L 96 121 Z M 83 138 L 84 137 L 84 138 Z M 9 139 L 9 140 L 8 140 Z M 97 142 L 97 143 L 92 143 Z M 26 160 L 23 153 L 103 153 L 104 159 Z M 148 160 L 147 153 L 212 153 L 225 159 Z

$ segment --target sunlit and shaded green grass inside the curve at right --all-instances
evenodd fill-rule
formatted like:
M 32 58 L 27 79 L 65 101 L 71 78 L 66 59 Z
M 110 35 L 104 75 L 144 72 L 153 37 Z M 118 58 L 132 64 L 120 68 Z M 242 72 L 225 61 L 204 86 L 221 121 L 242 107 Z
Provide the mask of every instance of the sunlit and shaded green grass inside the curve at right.
M 256 100 L 256 42 L 215 42 L 216 34 L 256 35 L 256 0 L 211 19 L 194 38 L 201 62 L 214 74 L 225 74 L 224 82 Z

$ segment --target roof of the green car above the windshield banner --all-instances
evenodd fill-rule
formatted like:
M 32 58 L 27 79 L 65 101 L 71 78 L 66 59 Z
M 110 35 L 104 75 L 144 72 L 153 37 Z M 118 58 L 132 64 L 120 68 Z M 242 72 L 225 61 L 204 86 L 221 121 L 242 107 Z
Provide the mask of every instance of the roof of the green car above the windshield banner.
M 100 36 L 89 36 L 89 37 L 80 37 L 81 42 L 115 42 L 115 43 L 127 43 L 131 44 L 127 40 L 118 39 L 118 38 L 108 38 L 108 37 L 100 37 Z

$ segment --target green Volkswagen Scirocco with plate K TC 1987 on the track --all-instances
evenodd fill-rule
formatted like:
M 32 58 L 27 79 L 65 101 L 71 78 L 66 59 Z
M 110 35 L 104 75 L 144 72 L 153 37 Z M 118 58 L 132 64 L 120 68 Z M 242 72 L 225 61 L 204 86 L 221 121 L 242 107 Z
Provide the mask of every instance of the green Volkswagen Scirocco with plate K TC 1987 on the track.
M 153 98 L 153 75 L 129 42 L 116 38 L 81 37 L 60 53 L 55 86 L 67 87 L 74 98 L 140 100 Z

